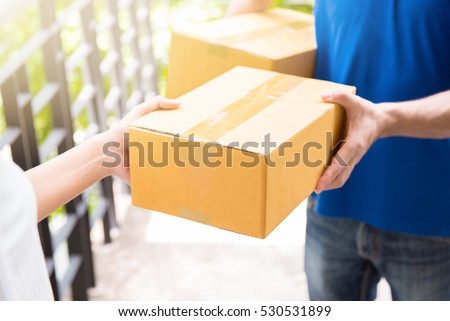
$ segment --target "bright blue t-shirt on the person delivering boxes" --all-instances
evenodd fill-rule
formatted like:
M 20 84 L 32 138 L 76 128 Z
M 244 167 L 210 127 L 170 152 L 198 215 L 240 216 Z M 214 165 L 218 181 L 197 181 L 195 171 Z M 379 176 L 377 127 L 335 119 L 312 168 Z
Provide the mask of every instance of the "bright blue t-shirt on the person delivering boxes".
M 316 0 L 316 77 L 373 102 L 450 89 L 450 1 Z M 450 102 L 449 102 L 450 103 Z M 400 233 L 450 236 L 450 141 L 377 141 L 317 211 Z

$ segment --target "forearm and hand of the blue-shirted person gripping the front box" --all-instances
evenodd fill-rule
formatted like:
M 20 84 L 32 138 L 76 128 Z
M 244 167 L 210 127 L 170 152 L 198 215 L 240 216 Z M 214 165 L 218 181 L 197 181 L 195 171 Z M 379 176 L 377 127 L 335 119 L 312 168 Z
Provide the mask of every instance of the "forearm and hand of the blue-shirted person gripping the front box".
M 347 136 L 320 178 L 316 193 L 342 187 L 353 168 L 379 138 L 450 137 L 450 90 L 400 103 L 374 104 L 348 92 L 324 94 L 322 98 L 345 108 Z

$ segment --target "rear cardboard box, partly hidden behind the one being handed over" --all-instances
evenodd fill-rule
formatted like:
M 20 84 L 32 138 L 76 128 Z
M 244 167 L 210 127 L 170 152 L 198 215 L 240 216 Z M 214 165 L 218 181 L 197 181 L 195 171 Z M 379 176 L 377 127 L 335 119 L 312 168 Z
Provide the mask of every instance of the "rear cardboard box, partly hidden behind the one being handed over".
M 313 24 L 311 15 L 273 9 L 176 31 L 166 95 L 178 97 L 236 66 L 313 77 Z

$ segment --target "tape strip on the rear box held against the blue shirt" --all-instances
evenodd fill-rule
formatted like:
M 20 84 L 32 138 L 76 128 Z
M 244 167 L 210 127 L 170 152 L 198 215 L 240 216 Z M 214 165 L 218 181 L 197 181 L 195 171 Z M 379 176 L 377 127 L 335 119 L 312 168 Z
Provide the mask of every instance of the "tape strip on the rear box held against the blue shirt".
M 228 53 L 227 46 L 245 42 L 248 40 L 261 39 L 265 37 L 275 36 L 281 32 L 292 32 L 298 29 L 302 29 L 311 26 L 312 22 L 308 21 L 295 21 L 286 24 L 282 24 L 277 27 L 266 28 L 262 30 L 250 31 L 247 33 L 233 35 L 218 39 L 209 39 L 208 52 L 212 55 L 225 57 Z

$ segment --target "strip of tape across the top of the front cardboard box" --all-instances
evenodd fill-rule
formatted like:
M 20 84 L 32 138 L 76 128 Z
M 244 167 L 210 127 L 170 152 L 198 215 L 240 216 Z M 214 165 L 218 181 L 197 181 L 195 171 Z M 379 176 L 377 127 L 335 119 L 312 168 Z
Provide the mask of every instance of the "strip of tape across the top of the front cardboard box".
M 281 74 L 275 75 L 231 105 L 187 130 L 181 136 L 189 137 L 189 135 L 193 134 L 195 140 L 217 141 L 226 133 L 272 105 L 302 82 L 303 78 Z

